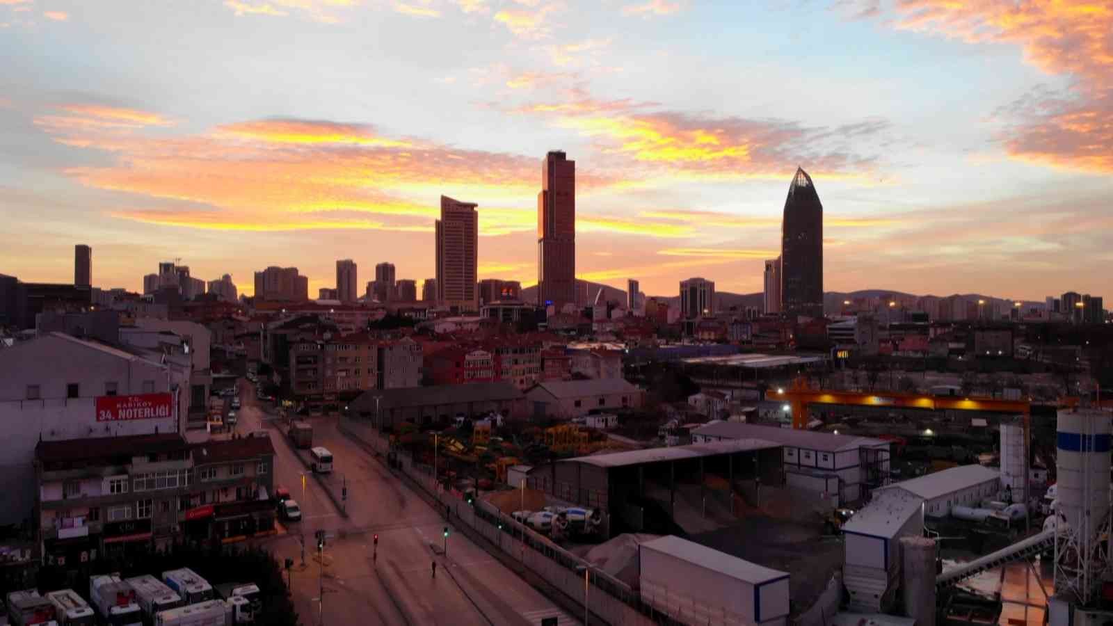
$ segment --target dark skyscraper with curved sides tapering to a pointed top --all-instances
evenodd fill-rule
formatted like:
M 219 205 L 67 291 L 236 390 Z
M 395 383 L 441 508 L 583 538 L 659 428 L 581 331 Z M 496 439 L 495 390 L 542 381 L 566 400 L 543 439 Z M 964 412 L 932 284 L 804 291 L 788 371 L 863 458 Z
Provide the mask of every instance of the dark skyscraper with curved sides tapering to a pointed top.
M 811 177 L 796 169 L 785 199 L 780 302 L 789 319 L 824 315 L 824 205 Z

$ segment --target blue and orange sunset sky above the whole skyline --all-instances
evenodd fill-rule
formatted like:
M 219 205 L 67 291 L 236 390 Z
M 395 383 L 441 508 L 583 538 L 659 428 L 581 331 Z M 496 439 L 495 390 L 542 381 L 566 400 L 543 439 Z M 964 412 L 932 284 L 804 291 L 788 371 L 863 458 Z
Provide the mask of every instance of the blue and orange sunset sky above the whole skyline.
M 1109 0 L 0 0 L 0 273 L 420 284 L 443 194 L 530 285 L 562 149 L 584 280 L 761 291 L 799 166 L 827 291 L 1100 295 L 1111 33 Z

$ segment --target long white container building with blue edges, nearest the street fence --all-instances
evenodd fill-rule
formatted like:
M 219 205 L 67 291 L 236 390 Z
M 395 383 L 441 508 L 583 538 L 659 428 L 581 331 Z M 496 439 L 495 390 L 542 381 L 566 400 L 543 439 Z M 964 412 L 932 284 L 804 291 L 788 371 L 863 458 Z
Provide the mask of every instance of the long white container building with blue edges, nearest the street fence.
M 674 535 L 638 547 L 641 598 L 686 624 L 788 623 L 788 573 Z

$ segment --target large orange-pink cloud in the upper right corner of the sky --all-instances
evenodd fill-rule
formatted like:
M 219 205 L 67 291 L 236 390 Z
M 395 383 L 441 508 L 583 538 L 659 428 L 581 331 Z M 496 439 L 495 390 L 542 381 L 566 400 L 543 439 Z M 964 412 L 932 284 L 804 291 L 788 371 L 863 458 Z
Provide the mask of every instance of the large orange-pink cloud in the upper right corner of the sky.
M 1009 107 L 1011 156 L 1068 169 L 1113 172 L 1113 6 L 1109 2 L 899 0 L 903 30 L 969 43 L 1009 43 L 1027 62 L 1077 80 L 1067 95 L 1035 91 Z

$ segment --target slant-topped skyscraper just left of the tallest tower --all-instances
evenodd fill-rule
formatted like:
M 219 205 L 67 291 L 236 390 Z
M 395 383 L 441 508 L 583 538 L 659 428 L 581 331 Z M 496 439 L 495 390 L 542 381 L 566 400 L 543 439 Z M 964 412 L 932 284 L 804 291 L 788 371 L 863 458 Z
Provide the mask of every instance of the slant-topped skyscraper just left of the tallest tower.
M 457 312 L 479 310 L 480 221 L 474 203 L 441 196 L 436 221 L 436 300 Z

